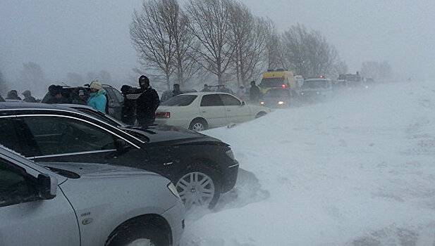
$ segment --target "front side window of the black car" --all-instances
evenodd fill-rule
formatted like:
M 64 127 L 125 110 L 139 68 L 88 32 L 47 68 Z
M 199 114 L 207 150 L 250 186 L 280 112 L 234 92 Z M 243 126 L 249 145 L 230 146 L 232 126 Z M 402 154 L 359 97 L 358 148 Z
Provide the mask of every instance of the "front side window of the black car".
M 115 149 L 116 136 L 87 122 L 66 117 L 25 117 L 41 155 Z

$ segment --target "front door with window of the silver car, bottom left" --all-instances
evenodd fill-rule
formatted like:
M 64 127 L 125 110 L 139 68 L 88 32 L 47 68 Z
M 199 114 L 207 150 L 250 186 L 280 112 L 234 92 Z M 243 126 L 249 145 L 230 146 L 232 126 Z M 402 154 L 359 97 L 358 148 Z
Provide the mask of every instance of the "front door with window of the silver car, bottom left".
M 62 191 L 51 200 L 38 192 L 35 176 L 0 155 L 0 245 L 79 246 L 78 221 Z

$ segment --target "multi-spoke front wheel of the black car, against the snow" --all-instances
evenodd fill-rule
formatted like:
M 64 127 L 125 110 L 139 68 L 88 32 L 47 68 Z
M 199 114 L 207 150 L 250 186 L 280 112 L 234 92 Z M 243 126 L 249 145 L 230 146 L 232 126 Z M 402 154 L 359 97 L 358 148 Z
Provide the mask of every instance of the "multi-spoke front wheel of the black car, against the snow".
M 221 195 L 220 184 L 212 171 L 186 171 L 176 182 L 176 188 L 186 209 L 192 206 L 212 209 Z

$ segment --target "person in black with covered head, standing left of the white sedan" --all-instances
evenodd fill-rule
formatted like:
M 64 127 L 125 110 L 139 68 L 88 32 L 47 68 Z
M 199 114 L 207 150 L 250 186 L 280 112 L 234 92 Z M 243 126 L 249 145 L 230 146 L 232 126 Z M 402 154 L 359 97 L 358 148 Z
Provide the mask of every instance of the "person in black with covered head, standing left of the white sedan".
M 136 101 L 137 121 L 142 126 L 154 124 L 156 110 L 159 108 L 160 99 L 157 91 L 149 86 L 149 79 L 145 75 L 139 78 L 140 96 Z

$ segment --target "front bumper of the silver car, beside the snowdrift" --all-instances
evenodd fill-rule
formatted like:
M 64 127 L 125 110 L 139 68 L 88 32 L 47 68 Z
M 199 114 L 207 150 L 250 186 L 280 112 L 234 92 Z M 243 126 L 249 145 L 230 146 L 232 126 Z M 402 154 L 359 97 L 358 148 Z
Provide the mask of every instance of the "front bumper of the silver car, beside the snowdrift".
M 179 245 L 185 227 L 185 207 L 183 202 L 168 209 L 162 216 L 168 221 L 172 231 L 172 245 Z

